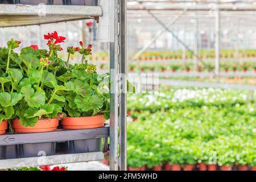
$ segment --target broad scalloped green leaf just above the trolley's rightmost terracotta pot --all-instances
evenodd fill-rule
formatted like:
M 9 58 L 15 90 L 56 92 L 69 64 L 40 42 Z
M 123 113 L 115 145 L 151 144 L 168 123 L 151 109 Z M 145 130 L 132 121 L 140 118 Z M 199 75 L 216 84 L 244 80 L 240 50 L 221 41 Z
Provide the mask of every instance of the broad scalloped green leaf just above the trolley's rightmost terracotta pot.
M 89 99 L 81 96 L 75 97 L 75 103 L 77 107 L 84 112 L 89 111 L 91 109 L 99 109 L 103 105 L 102 102 L 102 97 L 97 95 L 93 95 Z

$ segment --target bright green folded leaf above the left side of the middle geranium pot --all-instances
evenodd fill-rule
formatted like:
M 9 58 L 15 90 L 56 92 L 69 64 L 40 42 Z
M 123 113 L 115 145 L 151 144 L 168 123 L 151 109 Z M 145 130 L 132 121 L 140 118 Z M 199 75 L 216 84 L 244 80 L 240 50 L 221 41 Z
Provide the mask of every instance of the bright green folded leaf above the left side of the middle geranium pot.
M 43 91 L 35 92 L 30 86 L 23 86 L 20 92 L 24 94 L 24 98 L 30 107 L 40 107 L 46 102 L 46 96 Z

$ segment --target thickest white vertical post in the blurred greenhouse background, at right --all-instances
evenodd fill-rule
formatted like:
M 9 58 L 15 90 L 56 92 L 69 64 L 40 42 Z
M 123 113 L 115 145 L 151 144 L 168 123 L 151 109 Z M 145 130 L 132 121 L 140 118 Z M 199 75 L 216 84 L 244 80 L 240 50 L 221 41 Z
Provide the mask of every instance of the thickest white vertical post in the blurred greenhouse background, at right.
M 215 10 L 215 76 L 219 75 L 220 64 L 220 9 L 218 7 L 218 0 L 216 2 Z

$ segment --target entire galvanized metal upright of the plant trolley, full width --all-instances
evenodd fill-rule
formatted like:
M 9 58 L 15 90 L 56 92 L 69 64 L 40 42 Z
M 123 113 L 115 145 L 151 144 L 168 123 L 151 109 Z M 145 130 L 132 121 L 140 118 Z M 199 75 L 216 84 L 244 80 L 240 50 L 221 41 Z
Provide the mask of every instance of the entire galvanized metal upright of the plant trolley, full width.
M 126 0 L 114 0 L 114 42 L 110 43 L 109 166 L 112 171 L 126 170 L 126 55 Z

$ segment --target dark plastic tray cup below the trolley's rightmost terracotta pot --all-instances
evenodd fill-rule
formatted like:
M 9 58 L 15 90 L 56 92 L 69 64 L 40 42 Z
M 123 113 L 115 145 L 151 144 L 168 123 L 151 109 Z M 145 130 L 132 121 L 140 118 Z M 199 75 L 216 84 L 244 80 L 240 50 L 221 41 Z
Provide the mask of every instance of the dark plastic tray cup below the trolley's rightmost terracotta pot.
M 66 142 L 65 151 L 69 154 L 103 151 L 104 139 L 93 138 Z

